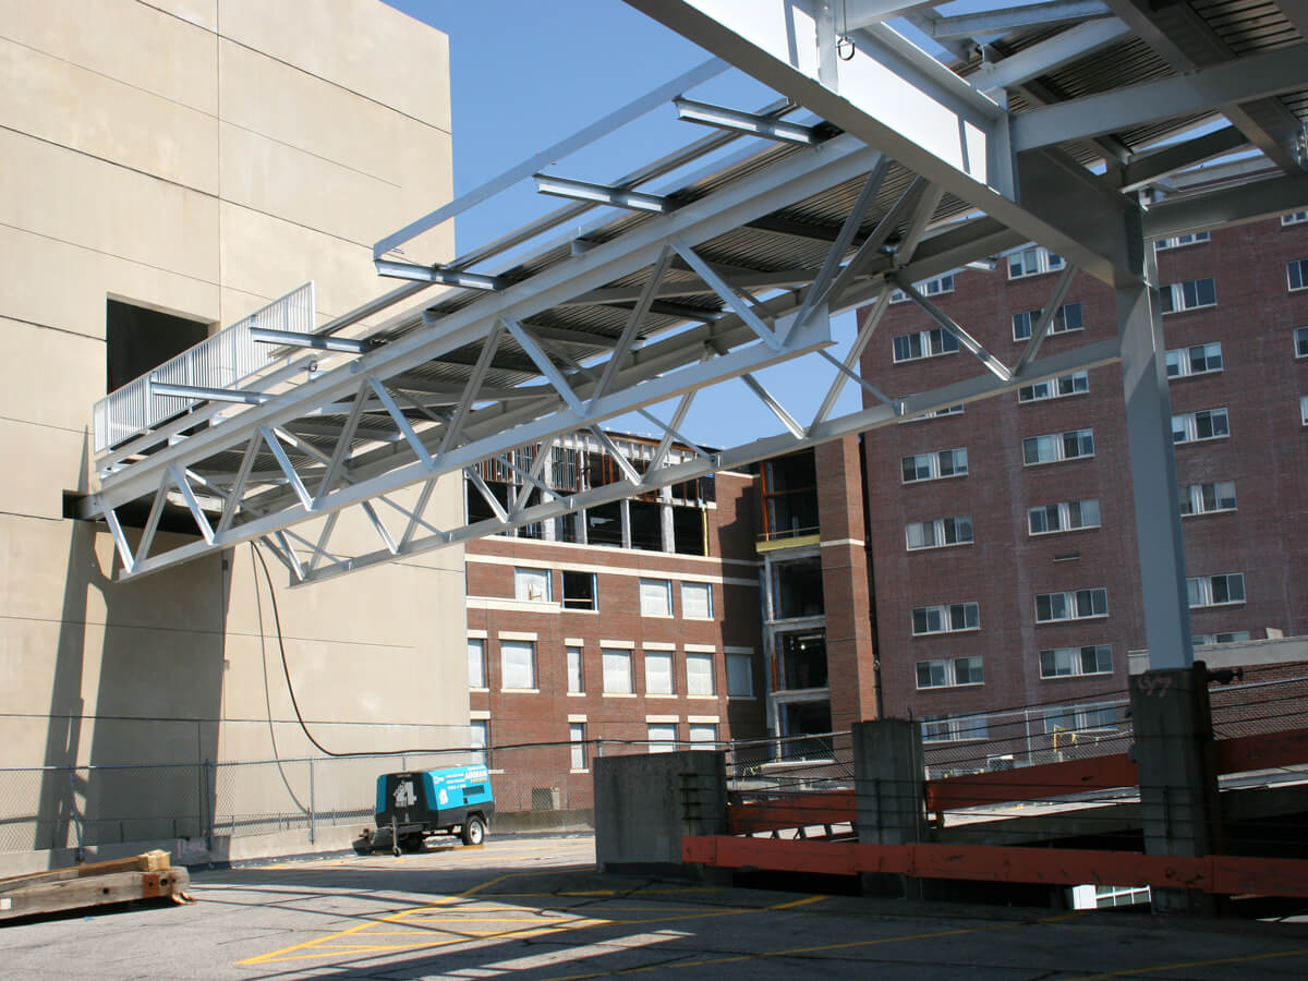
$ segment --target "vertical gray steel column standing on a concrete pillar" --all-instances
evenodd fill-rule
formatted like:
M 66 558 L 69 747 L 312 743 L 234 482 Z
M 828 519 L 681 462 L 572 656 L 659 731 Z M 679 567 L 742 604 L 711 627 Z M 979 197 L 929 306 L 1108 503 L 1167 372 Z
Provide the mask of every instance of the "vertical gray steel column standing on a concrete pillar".
M 1146 277 L 1156 283 L 1152 251 L 1147 247 Z M 1126 432 L 1150 667 L 1189 667 L 1194 647 L 1185 589 L 1185 543 L 1176 502 L 1172 400 L 1163 357 L 1167 348 L 1156 289 L 1144 284 L 1118 286 L 1117 323 L 1122 337 Z

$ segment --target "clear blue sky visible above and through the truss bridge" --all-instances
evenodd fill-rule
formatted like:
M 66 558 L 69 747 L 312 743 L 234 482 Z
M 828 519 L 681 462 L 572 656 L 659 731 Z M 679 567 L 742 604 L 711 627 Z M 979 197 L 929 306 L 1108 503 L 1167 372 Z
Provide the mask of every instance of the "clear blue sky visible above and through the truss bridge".
M 450 37 L 456 195 L 708 58 L 696 44 L 620 0 L 387 3 Z M 412 84 L 421 85 L 422 80 L 413 78 Z M 772 98 L 761 86 L 739 77 L 709 84 L 695 94 L 742 109 L 756 109 Z M 671 107 L 655 111 L 645 128 L 633 132 L 634 137 L 624 133 L 625 139 L 596 145 L 555 173 L 611 181 L 704 133 L 675 122 Z M 439 203 L 434 200 L 433 207 Z M 559 204 L 557 199 L 536 195 L 530 186 L 519 186 L 456 220 L 458 249 L 467 251 Z M 837 318 L 835 356 L 844 356 L 853 330 L 853 314 Z M 824 379 L 829 378 L 829 369 L 815 361 L 816 356 L 810 356 L 759 375 L 802 422 L 812 417 L 825 391 Z M 859 404 L 857 386 L 849 385 L 836 411 L 853 411 Z M 662 419 L 668 419 L 671 411 L 670 405 L 654 409 Z M 653 432 L 638 419 L 613 420 L 610 425 Z M 731 381 L 697 396 L 685 430 L 704 443 L 734 446 L 781 432 L 781 425 L 740 381 Z

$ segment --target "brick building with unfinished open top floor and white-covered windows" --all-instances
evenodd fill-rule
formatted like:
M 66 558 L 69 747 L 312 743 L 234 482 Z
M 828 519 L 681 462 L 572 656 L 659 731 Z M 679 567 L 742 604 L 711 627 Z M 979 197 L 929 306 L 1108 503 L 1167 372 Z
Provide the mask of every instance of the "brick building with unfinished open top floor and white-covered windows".
M 659 451 L 610 439 L 641 471 Z M 617 466 L 589 433 L 552 451 L 560 492 Z M 515 464 L 484 468 L 485 492 L 466 481 L 471 517 L 487 493 L 511 506 L 531 460 Z M 501 810 L 589 807 L 595 752 L 763 735 L 755 531 L 752 479 L 721 472 L 468 544 L 472 738 L 532 744 L 490 752 Z

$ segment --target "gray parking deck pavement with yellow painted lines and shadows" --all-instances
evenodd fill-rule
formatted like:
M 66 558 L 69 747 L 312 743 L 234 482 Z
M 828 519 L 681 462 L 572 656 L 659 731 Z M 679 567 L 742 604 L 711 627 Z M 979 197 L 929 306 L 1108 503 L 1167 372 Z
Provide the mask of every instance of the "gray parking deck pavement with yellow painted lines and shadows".
M 0 927 L 5 978 L 1308 977 L 1308 925 L 913 904 L 594 871 L 585 836 L 194 874 L 183 908 Z

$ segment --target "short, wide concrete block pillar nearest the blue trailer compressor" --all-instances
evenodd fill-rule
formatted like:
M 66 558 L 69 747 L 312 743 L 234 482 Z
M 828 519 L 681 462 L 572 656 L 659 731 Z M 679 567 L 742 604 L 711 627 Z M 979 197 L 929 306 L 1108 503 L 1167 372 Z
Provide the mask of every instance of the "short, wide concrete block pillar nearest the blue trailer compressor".
M 610 872 L 685 871 L 683 835 L 726 835 L 726 755 L 603 756 L 595 766 L 595 859 Z

